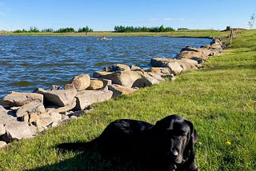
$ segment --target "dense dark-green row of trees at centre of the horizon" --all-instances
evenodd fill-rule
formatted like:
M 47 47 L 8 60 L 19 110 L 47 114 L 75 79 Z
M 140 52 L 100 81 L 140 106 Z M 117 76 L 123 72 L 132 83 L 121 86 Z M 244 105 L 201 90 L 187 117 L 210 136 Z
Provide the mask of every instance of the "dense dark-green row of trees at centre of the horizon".
M 124 33 L 124 32 L 170 32 L 174 31 L 172 27 L 156 26 L 156 27 L 146 27 L 146 26 L 114 26 L 114 32 Z

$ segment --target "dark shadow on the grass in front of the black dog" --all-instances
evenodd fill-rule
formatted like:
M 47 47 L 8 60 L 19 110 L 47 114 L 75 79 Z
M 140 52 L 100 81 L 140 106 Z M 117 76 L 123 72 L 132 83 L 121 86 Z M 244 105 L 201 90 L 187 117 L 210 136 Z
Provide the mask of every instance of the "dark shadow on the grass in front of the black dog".
M 59 151 L 59 153 L 63 153 Z M 65 152 L 64 152 L 65 153 Z M 35 169 L 28 169 L 27 171 L 39 170 L 84 170 L 84 171 L 113 171 L 113 170 L 145 170 L 141 165 L 134 161 L 121 161 L 118 158 L 114 160 L 103 159 L 99 153 L 95 151 L 78 152 L 75 157 L 66 159 L 64 161 L 55 163 L 53 165 L 44 165 Z

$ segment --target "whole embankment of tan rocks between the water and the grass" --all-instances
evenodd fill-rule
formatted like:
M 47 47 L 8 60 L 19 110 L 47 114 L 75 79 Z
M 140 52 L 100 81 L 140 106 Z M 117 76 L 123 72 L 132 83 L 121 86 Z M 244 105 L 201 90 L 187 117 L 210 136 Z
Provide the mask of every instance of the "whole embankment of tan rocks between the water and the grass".
M 78 75 L 64 87 L 34 89 L 33 93 L 11 92 L 0 105 L 0 148 L 22 138 L 34 137 L 64 121 L 79 117 L 95 102 L 106 101 L 136 89 L 174 79 L 185 70 L 202 68 L 207 58 L 222 53 L 224 44 L 214 38 L 210 45 L 186 46 L 176 58 L 152 58 L 150 69 L 116 64 L 90 78 Z

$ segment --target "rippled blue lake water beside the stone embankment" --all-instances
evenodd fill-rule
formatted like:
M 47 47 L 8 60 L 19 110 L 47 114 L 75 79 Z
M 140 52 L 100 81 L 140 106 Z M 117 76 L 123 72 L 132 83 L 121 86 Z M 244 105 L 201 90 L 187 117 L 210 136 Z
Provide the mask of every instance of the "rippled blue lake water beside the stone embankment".
M 64 85 L 75 75 L 90 74 L 114 63 L 149 67 L 155 57 L 172 58 L 185 46 L 206 38 L 0 36 L 0 97 L 10 91 Z

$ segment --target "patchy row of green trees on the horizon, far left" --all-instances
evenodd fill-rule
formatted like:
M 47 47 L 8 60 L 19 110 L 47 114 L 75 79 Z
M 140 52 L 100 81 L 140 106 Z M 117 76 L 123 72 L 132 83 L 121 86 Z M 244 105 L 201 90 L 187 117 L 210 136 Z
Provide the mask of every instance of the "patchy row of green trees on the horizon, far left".
M 72 33 L 72 32 L 78 32 L 78 33 L 82 33 L 82 32 L 93 32 L 93 31 L 94 30 L 92 30 L 88 26 L 79 28 L 78 30 L 74 30 L 74 28 L 72 28 L 72 27 L 60 28 L 58 30 L 54 30 L 52 28 L 39 30 L 37 27 L 31 26 L 29 30 L 26 30 L 26 29 L 14 30 L 14 33 L 38 33 L 38 32 L 51 32 L 51 33 Z

